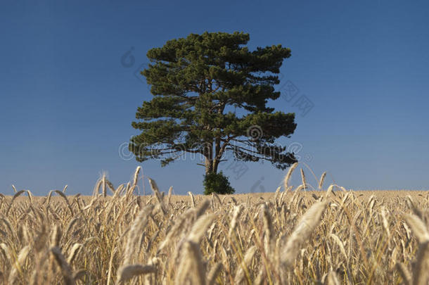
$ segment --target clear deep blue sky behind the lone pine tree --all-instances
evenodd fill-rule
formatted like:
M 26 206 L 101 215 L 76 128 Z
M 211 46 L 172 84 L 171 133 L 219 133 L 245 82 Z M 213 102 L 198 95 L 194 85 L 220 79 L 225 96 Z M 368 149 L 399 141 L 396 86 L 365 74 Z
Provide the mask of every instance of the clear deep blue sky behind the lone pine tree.
M 202 193 L 198 161 L 139 164 L 118 149 L 151 99 L 134 75 L 148 49 L 205 31 L 248 32 L 251 49 L 292 50 L 278 89 L 292 82 L 299 92 L 274 106 L 296 113 L 286 143 L 318 177 L 328 171 L 327 183 L 347 189 L 429 188 L 427 1 L 87 2 L 1 5 L 1 193 L 68 184 L 69 194 L 91 194 L 102 171 L 117 185 L 137 165 L 162 190 Z M 304 116 L 294 106 L 302 95 L 313 104 Z M 285 175 L 267 163 L 220 168 L 238 193 L 275 191 Z

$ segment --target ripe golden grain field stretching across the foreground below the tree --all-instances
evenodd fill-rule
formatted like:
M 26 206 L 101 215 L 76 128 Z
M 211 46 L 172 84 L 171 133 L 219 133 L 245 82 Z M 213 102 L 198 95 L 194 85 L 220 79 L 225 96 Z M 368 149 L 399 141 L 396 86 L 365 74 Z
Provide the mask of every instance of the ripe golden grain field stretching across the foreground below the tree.
M 295 165 L 296 166 L 296 165 Z M 0 284 L 427 284 L 423 191 L 0 194 Z M 145 178 L 146 179 L 146 178 Z M 275 189 L 274 189 L 275 190 Z

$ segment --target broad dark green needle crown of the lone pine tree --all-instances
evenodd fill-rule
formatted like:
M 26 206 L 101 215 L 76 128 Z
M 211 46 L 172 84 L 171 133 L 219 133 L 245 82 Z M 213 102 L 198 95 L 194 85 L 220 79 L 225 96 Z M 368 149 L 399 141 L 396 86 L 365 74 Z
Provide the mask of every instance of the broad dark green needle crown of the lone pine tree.
M 274 85 L 290 49 L 249 51 L 249 39 L 243 32 L 205 32 L 148 51 L 151 64 L 141 75 L 153 99 L 143 102 L 132 122 L 141 130 L 129 144 L 136 160 L 154 158 L 165 166 L 194 153 L 205 160 L 206 177 L 217 174 L 226 151 L 236 160 L 267 160 L 282 170 L 296 162 L 275 142 L 293 134 L 295 113 L 267 107 L 280 96 Z

